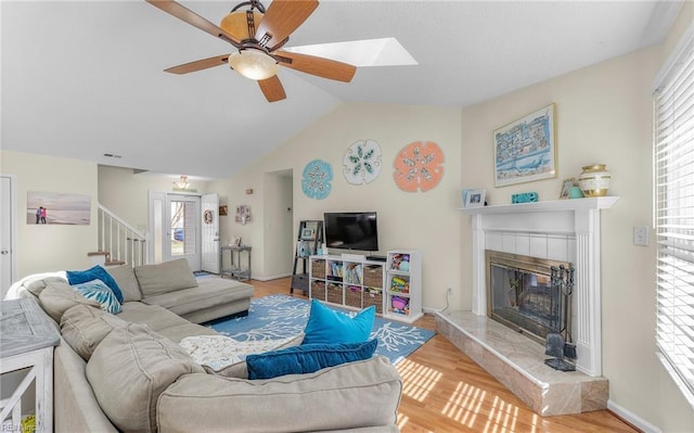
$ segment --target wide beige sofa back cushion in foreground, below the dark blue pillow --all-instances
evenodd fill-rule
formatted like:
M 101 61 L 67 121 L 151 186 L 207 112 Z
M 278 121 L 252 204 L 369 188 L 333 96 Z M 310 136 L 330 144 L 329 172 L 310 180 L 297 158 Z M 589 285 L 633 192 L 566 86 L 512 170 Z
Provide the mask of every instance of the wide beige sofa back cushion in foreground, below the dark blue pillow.
M 159 396 L 157 423 L 167 433 L 394 425 L 401 391 L 398 371 L 381 356 L 270 380 L 187 374 Z

